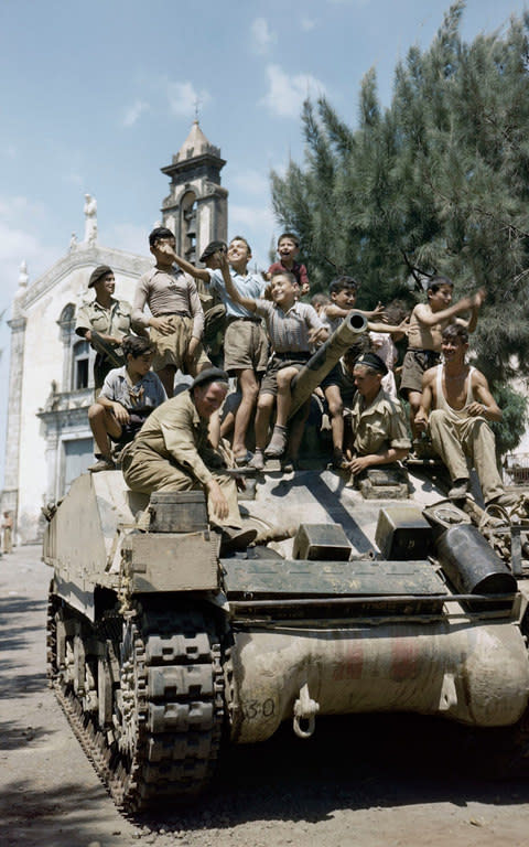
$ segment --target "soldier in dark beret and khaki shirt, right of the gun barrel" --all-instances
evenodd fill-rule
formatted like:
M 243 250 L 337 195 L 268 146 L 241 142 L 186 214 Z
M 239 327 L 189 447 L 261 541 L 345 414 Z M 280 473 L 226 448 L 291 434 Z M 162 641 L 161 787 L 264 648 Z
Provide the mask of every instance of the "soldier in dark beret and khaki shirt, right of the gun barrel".
M 356 396 L 346 448 L 347 468 L 354 476 L 368 468 L 393 464 L 404 459 L 411 448 L 402 406 L 381 387 L 387 373 L 376 353 L 364 353 L 354 366 Z

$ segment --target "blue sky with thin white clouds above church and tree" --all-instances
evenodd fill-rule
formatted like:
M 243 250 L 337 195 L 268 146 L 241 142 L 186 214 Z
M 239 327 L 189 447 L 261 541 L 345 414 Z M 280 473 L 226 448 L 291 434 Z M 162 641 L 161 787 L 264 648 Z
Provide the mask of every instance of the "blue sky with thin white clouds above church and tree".
M 523 2 L 467 0 L 462 32 L 504 30 Z M 303 159 L 301 107 L 324 94 L 352 126 L 364 74 L 382 106 L 396 63 L 427 47 L 449 0 L 0 0 L 0 393 L 19 268 L 30 285 L 83 238 L 84 195 L 98 240 L 148 255 L 170 164 L 196 110 L 227 164 L 228 236 L 268 267 L 280 229 L 271 169 Z M 4 403 L 0 404 L 0 408 Z M 4 420 L 0 418 L 0 439 Z M 0 473 L 3 447 L 0 441 Z

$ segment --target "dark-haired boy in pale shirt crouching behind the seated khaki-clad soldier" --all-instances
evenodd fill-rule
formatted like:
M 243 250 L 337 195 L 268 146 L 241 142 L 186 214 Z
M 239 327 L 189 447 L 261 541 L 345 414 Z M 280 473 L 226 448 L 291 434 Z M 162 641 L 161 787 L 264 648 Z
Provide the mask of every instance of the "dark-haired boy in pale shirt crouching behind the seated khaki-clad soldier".
M 127 364 L 105 377 L 101 392 L 88 409 L 88 421 L 98 452 L 89 471 L 116 468 L 110 441 L 122 449 L 132 441 L 153 409 L 168 396 L 160 378 L 151 371 L 153 346 L 149 339 L 127 335 L 122 342 Z

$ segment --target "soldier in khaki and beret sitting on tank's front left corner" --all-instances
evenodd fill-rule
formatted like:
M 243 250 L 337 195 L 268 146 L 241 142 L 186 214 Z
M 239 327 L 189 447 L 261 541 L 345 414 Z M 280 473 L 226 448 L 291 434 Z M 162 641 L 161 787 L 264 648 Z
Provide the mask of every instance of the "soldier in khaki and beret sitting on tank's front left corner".
M 218 367 L 201 372 L 188 390 L 169 399 L 145 421 L 121 454 L 125 481 L 132 491 L 203 489 L 210 523 L 223 534 L 224 546 L 246 547 L 256 530 L 242 529 L 237 482 L 222 469 L 233 467 L 226 443 L 214 449 L 208 424 L 228 392 L 228 375 Z

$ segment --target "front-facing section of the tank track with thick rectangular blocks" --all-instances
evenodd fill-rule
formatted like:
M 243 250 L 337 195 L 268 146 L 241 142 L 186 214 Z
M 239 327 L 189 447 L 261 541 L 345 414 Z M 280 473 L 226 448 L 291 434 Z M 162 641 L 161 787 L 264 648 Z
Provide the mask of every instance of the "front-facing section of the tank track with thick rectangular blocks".
M 112 763 L 120 805 L 140 811 L 198 794 L 215 771 L 223 722 L 220 648 L 205 615 L 142 609 L 127 621 Z

